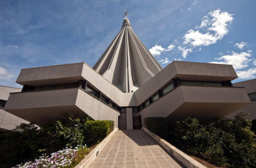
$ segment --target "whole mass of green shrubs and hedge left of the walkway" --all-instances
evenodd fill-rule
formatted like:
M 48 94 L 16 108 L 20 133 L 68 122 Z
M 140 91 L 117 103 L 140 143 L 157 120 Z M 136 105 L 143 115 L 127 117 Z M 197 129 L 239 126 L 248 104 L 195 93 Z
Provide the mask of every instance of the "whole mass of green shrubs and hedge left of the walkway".
M 0 167 L 11 167 L 32 161 L 42 154 L 50 155 L 66 147 L 90 147 L 113 131 L 113 121 L 87 119 L 66 115 L 61 121 L 53 121 L 40 128 L 33 123 L 23 123 L 12 131 L 1 134 Z

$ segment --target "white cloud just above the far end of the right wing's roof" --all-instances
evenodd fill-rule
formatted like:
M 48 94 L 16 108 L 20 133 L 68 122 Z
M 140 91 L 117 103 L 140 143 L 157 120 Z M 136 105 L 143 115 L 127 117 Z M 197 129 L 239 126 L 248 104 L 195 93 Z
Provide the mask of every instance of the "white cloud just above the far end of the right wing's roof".
M 251 54 L 249 53 L 235 53 L 231 52 L 232 55 L 225 55 L 219 58 L 216 58 L 217 60 L 220 60 L 221 62 L 210 62 L 210 63 L 219 63 L 219 64 L 230 64 L 233 65 L 234 69 L 242 69 L 248 66 L 248 62 L 251 61 L 249 57 L 251 57 Z

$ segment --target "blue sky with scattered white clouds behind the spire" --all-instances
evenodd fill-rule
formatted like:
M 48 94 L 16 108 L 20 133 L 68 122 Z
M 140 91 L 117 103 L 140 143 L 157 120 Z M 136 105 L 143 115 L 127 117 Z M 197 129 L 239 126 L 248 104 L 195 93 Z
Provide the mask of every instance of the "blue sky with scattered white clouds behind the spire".
M 163 67 L 173 60 L 233 64 L 256 78 L 256 1 L 0 1 L 0 85 L 22 68 L 96 63 L 123 12 Z

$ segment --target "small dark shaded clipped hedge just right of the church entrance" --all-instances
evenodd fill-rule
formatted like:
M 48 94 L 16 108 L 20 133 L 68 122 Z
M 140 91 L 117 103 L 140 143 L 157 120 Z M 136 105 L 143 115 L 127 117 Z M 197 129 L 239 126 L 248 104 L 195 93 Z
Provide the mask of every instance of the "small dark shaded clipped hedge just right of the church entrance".
M 146 117 L 144 118 L 145 127 L 160 136 L 168 139 L 168 125 L 164 117 Z

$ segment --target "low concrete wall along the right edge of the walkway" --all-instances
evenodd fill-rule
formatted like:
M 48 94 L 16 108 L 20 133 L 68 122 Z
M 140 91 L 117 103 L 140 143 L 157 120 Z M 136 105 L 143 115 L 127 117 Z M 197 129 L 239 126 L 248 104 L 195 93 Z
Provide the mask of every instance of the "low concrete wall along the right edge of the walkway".
M 162 139 L 161 137 L 157 136 L 150 130 L 142 127 L 146 133 L 152 136 L 166 151 L 172 154 L 176 159 L 178 159 L 184 166 L 188 168 L 207 168 L 206 166 L 202 165 L 198 161 L 194 160 L 193 158 L 189 157 L 185 153 L 181 152 L 174 146 L 170 145 L 166 140 Z

